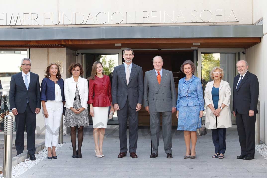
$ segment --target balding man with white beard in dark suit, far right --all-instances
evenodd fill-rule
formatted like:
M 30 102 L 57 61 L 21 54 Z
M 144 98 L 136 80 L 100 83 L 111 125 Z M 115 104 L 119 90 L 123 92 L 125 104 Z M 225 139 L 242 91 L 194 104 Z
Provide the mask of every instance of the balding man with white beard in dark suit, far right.
M 236 117 L 241 155 L 237 159 L 251 160 L 255 154 L 255 122 L 259 82 L 256 75 L 248 71 L 248 63 L 240 60 L 236 64 L 239 75 L 234 78 L 233 114 Z

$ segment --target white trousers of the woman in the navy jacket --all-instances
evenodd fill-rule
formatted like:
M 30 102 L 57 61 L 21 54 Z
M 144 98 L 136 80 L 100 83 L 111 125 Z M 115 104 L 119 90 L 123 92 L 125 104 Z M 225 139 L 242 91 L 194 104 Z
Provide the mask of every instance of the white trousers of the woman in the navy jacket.
M 56 147 L 59 135 L 60 120 L 63 113 L 63 103 L 55 101 L 45 102 L 48 118 L 45 118 L 45 146 Z M 43 115 L 44 110 L 42 109 Z

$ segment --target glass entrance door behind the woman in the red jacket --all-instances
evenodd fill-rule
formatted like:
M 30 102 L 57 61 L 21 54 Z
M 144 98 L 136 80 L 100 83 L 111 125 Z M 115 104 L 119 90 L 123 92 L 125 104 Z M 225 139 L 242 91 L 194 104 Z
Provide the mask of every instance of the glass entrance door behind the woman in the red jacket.
M 113 77 L 113 69 L 114 67 L 118 66 L 121 61 L 121 50 L 103 50 L 103 51 L 97 51 L 97 50 L 86 50 L 81 51 L 81 63 L 84 67 L 84 78 L 89 79 L 91 72 L 92 72 L 92 66 L 95 61 L 100 61 L 103 64 L 103 74 L 108 75 L 110 78 L 110 81 L 112 82 Z M 109 107 L 110 110 L 110 107 Z M 108 118 L 109 112 L 107 113 Z M 89 115 L 89 127 L 93 127 L 93 121 L 92 116 Z M 118 128 L 118 117 L 117 112 L 115 111 L 113 115 L 113 119 L 108 119 L 108 128 Z

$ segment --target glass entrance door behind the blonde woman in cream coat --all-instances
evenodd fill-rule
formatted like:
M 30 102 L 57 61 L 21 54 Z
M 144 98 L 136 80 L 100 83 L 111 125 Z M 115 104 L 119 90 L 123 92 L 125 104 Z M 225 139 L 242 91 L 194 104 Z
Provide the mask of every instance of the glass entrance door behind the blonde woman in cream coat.
M 224 71 L 224 76 L 222 80 L 227 81 L 231 87 L 230 108 L 232 110 L 234 76 L 237 75 L 235 64 L 238 60 L 244 59 L 244 56 L 240 50 L 239 51 L 237 50 L 238 52 L 234 51 L 227 52 L 227 50 L 225 50 L 226 52 L 221 52 L 221 51 L 223 50 L 218 50 L 218 52 L 216 52 L 216 49 L 211 50 L 211 52 L 209 52 L 209 50 L 199 51 L 198 57 L 200 58 L 198 58 L 198 69 L 201 70 L 198 70 L 198 77 L 200 78 L 201 76 L 203 97 L 204 97 L 204 90 L 206 88 L 206 84 L 209 81 L 213 80 L 210 78 L 210 71 L 216 66 L 221 67 Z M 203 121 L 205 122 L 205 111 L 204 111 Z M 235 117 L 233 116 L 233 114 L 232 114 L 232 124 L 236 124 Z M 233 125 L 232 128 L 236 128 L 236 125 Z

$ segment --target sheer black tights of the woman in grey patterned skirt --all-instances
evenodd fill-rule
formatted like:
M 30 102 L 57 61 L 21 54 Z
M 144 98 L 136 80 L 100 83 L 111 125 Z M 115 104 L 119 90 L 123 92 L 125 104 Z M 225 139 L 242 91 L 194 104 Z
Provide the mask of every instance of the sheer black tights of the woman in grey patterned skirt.
M 81 155 L 81 148 L 83 144 L 83 126 L 80 126 L 78 128 L 78 150 L 76 151 L 76 129 L 77 126 L 70 127 L 70 139 L 71 139 L 71 144 L 72 144 L 72 155 Z

